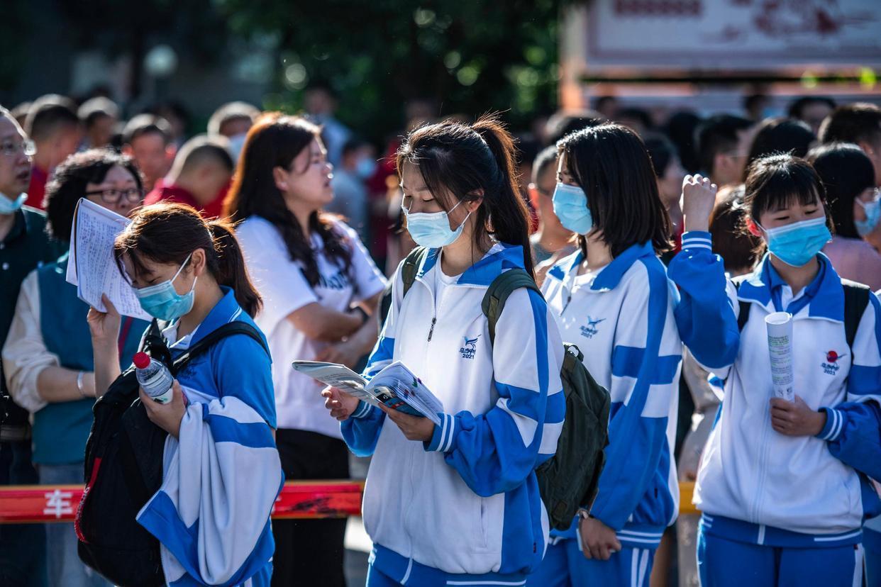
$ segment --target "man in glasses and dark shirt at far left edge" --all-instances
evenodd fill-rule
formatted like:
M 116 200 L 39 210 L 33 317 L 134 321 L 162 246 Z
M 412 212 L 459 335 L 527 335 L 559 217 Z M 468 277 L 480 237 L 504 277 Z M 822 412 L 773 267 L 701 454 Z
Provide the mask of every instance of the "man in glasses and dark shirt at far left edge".
M 0 106 L 0 344 L 9 332 L 22 280 L 33 268 L 56 260 L 63 248 L 46 236 L 46 216 L 23 207 L 33 154 L 33 143 Z M 0 367 L 0 485 L 37 481 L 28 414 L 12 403 Z M 0 584 L 45 585 L 45 558 L 41 525 L 0 525 Z

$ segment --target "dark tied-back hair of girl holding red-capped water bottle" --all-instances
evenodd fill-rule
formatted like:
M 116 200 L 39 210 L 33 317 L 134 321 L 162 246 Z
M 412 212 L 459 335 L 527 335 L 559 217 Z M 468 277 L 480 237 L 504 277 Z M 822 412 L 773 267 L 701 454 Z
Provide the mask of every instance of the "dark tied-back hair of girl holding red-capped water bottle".
M 183 204 L 159 203 L 140 209 L 114 243 L 116 265 L 122 275 L 122 256 L 128 254 L 135 276 L 144 271 L 144 259 L 182 265 L 196 249 L 203 249 L 208 272 L 220 285 L 232 288 L 241 309 L 251 318 L 263 300 L 245 267 L 241 246 L 226 220 L 206 222 Z

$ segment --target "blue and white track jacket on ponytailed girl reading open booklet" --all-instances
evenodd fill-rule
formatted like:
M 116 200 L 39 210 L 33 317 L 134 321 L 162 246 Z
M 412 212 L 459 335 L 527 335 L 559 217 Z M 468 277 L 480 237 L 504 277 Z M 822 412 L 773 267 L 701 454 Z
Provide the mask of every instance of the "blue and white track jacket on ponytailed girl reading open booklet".
M 480 303 L 493 278 L 522 268 L 520 246 L 493 246 L 441 299 L 438 256 L 428 253 L 406 297 L 398 268 L 366 376 L 402 361 L 443 403 L 442 425 L 431 442 L 412 442 L 362 403 L 342 423 L 343 437 L 356 454 L 374 455 L 363 510 L 383 547 L 378 569 L 391 551 L 446 573 L 516 583 L 537 568 L 548 536 L 534 471 L 556 451 L 563 426 L 562 342 L 544 299 L 529 290 L 507 299 L 494 347 L 489 341 Z M 389 561 L 393 575 L 396 564 Z

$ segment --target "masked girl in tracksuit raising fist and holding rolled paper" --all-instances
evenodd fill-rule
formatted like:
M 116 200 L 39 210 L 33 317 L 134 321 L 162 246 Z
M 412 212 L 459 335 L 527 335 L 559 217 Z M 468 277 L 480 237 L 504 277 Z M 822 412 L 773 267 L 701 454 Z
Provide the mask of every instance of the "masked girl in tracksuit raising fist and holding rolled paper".
M 819 253 L 831 237 L 825 192 L 802 159 L 751 166 L 746 226 L 769 254 L 739 290 L 711 250 L 715 187 L 687 176 L 683 191 L 683 251 L 670 264 L 677 324 L 695 358 L 725 378 L 694 495 L 701 583 L 859 585 L 860 527 L 881 505 L 865 476 L 881 473 L 881 303 L 870 294 L 848 348 L 841 280 Z M 791 402 L 774 398 L 771 312 L 792 314 Z

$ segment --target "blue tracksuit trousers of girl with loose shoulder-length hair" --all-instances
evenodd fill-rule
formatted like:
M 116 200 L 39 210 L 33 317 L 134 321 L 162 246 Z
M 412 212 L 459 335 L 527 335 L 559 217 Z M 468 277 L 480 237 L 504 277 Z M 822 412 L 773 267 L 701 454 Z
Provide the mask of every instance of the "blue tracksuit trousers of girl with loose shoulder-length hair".
M 648 587 L 655 550 L 624 547 L 608 561 L 586 559 L 577 539 L 562 539 L 548 547 L 544 561 L 526 584 L 534 587 Z

